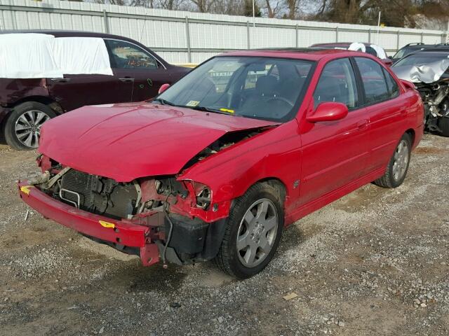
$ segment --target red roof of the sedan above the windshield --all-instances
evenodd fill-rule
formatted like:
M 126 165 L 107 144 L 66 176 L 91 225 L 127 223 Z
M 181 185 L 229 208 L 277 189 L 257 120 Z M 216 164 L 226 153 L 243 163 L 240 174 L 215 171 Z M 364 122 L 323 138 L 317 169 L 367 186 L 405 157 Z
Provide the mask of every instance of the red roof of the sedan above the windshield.
M 363 54 L 364 57 L 376 59 L 376 57 L 371 57 L 371 55 L 366 54 L 365 52 L 326 48 L 265 48 L 225 52 L 218 56 L 276 57 L 318 61 L 323 58 L 338 58 L 345 56 L 360 57 L 361 54 Z

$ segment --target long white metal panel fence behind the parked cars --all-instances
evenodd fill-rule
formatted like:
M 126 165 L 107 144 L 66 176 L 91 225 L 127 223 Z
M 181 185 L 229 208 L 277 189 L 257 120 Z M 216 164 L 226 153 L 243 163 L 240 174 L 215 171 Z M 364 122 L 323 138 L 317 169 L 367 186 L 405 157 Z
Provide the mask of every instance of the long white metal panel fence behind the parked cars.
M 67 29 L 127 36 L 168 62 L 203 62 L 227 50 L 371 42 L 389 55 L 408 43 L 442 43 L 445 31 L 308 22 L 58 0 L 0 0 L 0 29 Z

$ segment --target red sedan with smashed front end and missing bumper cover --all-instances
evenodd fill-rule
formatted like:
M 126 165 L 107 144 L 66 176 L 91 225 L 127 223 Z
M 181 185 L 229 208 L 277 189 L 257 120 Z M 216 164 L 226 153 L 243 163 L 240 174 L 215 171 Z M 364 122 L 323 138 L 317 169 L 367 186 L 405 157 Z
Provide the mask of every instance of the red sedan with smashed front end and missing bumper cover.
M 20 197 L 143 265 L 214 259 L 246 278 L 284 227 L 366 183 L 400 186 L 422 138 L 413 85 L 360 52 L 230 52 L 167 87 L 48 121 Z

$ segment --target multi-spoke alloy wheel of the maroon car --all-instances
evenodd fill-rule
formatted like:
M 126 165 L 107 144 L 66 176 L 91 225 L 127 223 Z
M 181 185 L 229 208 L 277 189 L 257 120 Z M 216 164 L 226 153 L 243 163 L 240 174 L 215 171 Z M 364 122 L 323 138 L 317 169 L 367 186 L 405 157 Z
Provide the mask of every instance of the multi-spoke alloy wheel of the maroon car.
M 55 116 L 51 108 L 38 102 L 25 102 L 15 106 L 6 120 L 6 143 L 17 150 L 37 148 L 41 126 Z

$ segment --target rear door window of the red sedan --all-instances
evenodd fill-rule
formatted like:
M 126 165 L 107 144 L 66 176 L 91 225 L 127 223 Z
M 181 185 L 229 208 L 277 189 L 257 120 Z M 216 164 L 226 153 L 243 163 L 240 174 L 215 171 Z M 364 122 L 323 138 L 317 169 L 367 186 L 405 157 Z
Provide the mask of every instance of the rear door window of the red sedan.
M 365 103 L 375 104 L 390 98 L 382 66 L 373 59 L 354 57 L 360 71 L 363 88 L 365 90 Z

